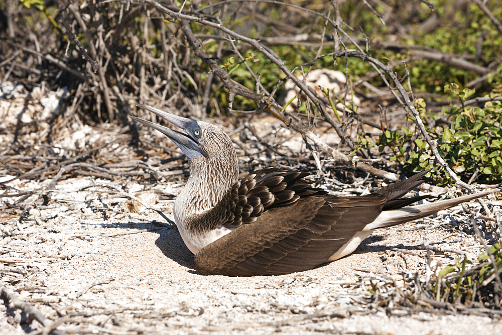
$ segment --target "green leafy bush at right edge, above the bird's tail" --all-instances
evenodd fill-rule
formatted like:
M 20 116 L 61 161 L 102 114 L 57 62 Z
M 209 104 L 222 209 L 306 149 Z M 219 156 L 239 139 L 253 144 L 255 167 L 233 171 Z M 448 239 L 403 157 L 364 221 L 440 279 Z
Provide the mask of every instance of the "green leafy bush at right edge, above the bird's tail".
M 486 182 L 499 182 L 502 177 L 502 102 L 490 100 L 484 107 L 464 105 L 463 101 L 474 93 L 471 89 L 460 90 L 457 84 L 445 86 L 445 92 L 451 92 L 460 98 L 462 106 L 452 106 L 444 109 L 444 115 L 449 115 L 451 124 L 447 128 L 436 126 L 428 130 L 433 141 L 437 141 L 438 150 L 450 168 L 464 181 L 476 173 L 477 179 Z M 489 97 L 499 95 L 494 89 Z M 426 104 L 423 99 L 417 99 L 417 110 L 425 115 Z M 360 145 L 368 146 L 368 140 L 360 139 Z M 386 130 L 376 141 L 379 150 L 385 147 L 393 151 L 390 160 L 396 160 L 410 172 L 423 171 L 435 166 L 430 154 L 429 145 L 406 127 L 392 132 Z M 435 174 L 440 184 L 448 183 L 439 174 Z

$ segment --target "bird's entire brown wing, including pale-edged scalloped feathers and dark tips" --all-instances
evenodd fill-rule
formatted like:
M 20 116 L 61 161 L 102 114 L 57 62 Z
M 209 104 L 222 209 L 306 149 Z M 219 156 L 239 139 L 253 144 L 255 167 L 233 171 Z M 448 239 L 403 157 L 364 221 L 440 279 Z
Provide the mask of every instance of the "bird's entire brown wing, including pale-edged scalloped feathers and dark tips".
M 326 263 L 363 231 L 389 200 L 394 208 L 423 198 L 399 199 L 422 183 L 419 179 L 425 173 L 368 195 L 340 197 L 312 187 L 303 179 L 307 174 L 300 171 L 277 167 L 257 171 L 232 190 L 235 200 L 226 222 L 238 228 L 202 248 L 195 255 L 197 269 L 204 274 L 228 276 L 312 269 Z M 253 205 L 241 209 L 247 208 L 248 195 Z M 404 202 L 393 203 L 401 200 Z M 253 212 L 250 208 L 259 209 Z

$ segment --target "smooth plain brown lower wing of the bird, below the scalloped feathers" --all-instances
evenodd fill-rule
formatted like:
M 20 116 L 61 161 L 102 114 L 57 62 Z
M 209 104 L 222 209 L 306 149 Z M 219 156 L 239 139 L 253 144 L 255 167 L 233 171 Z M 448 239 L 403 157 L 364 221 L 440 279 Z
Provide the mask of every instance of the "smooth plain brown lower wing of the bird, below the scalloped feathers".
M 204 274 L 227 276 L 312 269 L 372 222 L 385 200 L 378 194 L 302 197 L 290 206 L 266 211 L 253 224 L 242 225 L 202 248 L 195 264 Z

